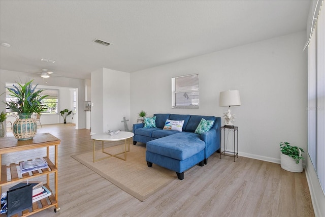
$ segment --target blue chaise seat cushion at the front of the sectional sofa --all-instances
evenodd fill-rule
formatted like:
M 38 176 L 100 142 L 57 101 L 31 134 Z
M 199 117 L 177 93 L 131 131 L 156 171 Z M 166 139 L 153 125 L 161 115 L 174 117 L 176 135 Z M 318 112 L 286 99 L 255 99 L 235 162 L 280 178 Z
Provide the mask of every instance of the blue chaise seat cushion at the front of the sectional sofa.
M 190 132 L 176 133 L 147 142 L 147 151 L 180 161 L 194 156 L 204 148 L 205 142 L 200 139 L 200 135 Z

